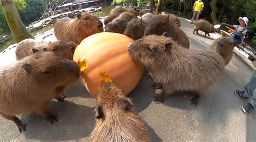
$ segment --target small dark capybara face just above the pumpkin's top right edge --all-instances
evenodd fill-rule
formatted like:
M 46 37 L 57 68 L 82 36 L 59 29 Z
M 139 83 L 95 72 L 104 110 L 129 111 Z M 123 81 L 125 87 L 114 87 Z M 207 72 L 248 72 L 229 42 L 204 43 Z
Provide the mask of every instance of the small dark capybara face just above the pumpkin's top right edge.
M 133 19 L 128 23 L 124 35 L 132 38 L 133 40 L 142 38 L 144 36 L 144 31 L 147 24 L 142 20 L 142 18 L 133 17 Z

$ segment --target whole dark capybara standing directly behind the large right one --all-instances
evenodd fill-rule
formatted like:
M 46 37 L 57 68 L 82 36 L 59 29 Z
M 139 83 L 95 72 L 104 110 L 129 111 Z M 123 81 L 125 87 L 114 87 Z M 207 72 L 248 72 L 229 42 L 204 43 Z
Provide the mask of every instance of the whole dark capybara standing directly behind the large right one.
M 158 36 L 161 36 L 164 32 L 167 32 L 167 36 L 180 44 L 181 47 L 190 48 L 190 41 L 186 34 L 183 30 L 174 26 L 169 17 L 170 15 L 153 16 L 144 31 L 144 35 L 149 36 L 150 34 L 157 34 Z

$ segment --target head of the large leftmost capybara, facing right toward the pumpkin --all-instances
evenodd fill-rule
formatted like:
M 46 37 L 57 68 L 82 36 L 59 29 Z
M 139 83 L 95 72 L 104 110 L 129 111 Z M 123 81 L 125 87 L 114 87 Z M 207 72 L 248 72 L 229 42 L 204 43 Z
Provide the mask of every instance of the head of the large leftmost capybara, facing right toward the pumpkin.
M 22 68 L 45 86 L 63 86 L 76 82 L 80 77 L 80 69 L 75 61 L 56 56 L 53 52 L 35 52 L 22 60 Z

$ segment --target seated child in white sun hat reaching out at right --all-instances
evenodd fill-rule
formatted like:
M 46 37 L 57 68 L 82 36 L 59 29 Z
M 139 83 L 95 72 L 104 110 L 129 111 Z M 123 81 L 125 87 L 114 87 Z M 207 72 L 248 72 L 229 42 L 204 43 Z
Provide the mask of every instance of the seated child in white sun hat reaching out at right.
M 245 34 L 247 33 L 246 27 L 249 20 L 247 17 L 239 17 L 238 22 L 240 25 L 228 25 L 226 23 L 221 23 L 221 25 L 225 25 L 234 29 L 235 32 L 232 33 L 230 37 L 233 38 L 234 41 L 237 42 L 237 44 L 240 44 L 244 40 Z

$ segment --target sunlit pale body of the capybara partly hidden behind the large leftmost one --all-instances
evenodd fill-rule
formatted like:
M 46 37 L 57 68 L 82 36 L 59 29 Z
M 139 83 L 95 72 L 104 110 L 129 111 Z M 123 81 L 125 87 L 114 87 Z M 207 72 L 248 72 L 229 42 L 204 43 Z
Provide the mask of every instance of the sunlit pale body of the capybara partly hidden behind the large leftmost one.
M 24 39 L 21 42 L 18 42 L 16 46 L 16 60 L 21 60 L 26 56 L 32 55 L 32 48 L 36 48 L 39 51 L 43 51 L 44 48 L 48 46 L 48 42 L 43 40 L 35 39 Z

